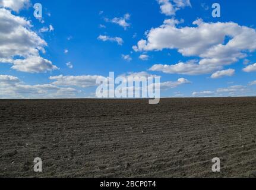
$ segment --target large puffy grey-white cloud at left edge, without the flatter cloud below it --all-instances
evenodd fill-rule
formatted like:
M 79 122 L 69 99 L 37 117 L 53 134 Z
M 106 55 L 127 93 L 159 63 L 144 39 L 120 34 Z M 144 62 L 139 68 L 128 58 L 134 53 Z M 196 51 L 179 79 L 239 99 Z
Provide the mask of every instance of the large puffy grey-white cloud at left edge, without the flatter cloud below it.
M 30 21 L 12 15 L 7 9 L 0 9 L 0 57 L 37 55 L 47 45 L 31 31 Z

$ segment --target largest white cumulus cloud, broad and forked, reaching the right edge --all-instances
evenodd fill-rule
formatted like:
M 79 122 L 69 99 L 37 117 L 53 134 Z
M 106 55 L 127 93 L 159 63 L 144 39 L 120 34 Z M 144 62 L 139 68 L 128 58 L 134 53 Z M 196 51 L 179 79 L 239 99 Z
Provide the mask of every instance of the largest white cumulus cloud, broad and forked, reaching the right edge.
M 135 51 L 177 49 L 183 56 L 198 56 L 198 62 L 180 62 L 173 65 L 154 65 L 151 70 L 177 74 L 210 74 L 223 66 L 238 62 L 246 52 L 256 49 L 256 31 L 236 23 L 204 23 L 196 20 L 197 27 L 177 27 L 177 20 L 165 21 L 140 40 Z M 229 42 L 225 43 L 226 37 Z

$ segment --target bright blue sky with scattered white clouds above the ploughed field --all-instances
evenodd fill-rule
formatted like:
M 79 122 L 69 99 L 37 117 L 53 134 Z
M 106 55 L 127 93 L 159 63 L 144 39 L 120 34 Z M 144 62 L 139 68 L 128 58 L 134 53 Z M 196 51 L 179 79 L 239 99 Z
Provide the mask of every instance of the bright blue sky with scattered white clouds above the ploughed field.
M 0 98 L 94 97 L 94 77 L 112 71 L 159 75 L 162 97 L 256 94 L 253 0 L 5 1 L 2 15 L 14 27 L 5 31 L 0 18 Z M 211 15 L 214 2 L 220 18 Z M 20 27 L 29 34 L 19 36 Z

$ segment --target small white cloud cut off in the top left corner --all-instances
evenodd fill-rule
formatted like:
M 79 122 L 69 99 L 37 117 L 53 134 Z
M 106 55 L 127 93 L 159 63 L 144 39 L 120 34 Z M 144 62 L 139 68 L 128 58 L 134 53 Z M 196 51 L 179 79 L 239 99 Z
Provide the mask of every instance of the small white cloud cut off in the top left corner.
M 30 6 L 30 0 L 0 0 L 0 7 L 10 8 L 16 12 Z

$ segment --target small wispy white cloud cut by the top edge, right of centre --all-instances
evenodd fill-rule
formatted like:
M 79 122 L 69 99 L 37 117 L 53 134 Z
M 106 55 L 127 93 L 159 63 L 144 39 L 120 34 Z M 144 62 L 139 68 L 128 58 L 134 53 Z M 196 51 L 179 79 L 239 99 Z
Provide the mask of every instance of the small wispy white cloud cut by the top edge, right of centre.
M 161 13 L 167 16 L 172 16 L 176 14 L 181 8 L 191 7 L 189 0 L 157 0 L 160 5 Z

